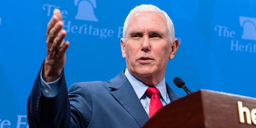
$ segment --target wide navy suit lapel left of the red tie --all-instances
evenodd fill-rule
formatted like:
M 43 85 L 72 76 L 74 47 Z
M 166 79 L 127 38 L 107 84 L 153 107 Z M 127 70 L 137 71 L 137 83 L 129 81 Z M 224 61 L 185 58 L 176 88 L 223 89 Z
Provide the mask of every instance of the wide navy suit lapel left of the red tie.
M 114 79 L 110 80 L 110 88 L 116 89 L 111 94 L 142 127 L 149 120 L 149 117 L 132 85 L 124 75 L 124 70 Z

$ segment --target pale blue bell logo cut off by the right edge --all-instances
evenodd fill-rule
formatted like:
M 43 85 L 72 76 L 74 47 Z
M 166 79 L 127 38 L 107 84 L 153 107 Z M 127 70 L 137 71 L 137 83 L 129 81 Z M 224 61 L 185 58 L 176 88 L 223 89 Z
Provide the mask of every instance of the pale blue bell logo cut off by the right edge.
M 240 26 L 244 27 L 242 39 L 256 40 L 256 18 L 252 17 L 239 17 Z

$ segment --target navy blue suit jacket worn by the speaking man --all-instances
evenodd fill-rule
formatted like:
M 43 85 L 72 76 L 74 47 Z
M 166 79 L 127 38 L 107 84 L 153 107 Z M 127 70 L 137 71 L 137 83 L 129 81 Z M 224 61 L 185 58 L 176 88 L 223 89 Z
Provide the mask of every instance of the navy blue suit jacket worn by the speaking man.
M 124 70 L 112 80 L 74 83 L 67 90 L 64 75 L 58 94 L 45 97 L 38 74 L 28 98 L 30 128 L 140 128 L 148 120 Z M 170 101 L 180 96 L 166 83 Z

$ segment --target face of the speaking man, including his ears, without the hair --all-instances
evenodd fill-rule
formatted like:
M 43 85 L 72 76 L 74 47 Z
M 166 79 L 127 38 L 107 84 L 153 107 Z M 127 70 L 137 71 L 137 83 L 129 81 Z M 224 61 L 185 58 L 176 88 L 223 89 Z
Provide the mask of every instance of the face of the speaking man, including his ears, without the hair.
M 122 56 L 129 72 L 139 80 L 164 77 L 172 52 L 166 18 L 156 12 L 140 12 L 130 17 L 125 39 L 121 39 Z M 174 40 L 174 45 L 178 45 Z M 157 83 L 156 83 L 157 84 Z

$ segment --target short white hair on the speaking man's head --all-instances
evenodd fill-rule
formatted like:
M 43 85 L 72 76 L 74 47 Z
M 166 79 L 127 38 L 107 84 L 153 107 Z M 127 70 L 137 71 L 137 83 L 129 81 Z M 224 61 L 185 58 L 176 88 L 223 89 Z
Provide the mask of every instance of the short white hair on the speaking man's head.
M 156 12 L 160 15 L 163 15 L 166 18 L 166 24 L 167 24 L 167 27 L 168 27 L 168 30 L 169 30 L 169 39 L 172 43 L 172 40 L 174 39 L 174 34 L 175 34 L 172 20 L 170 19 L 170 17 L 168 16 L 168 14 L 166 12 L 164 12 L 160 8 L 158 8 L 154 5 L 151 5 L 151 4 L 142 4 L 140 6 L 136 6 L 135 8 L 133 8 L 130 11 L 130 13 L 128 14 L 128 16 L 126 17 L 126 19 L 124 21 L 124 27 L 123 27 L 123 38 L 124 38 L 124 40 L 125 40 L 125 37 L 126 37 L 126 29 L 127 29 L 128 24 L 129 24 L 130 17 L 132 15 L 136 14 L 136 13 L 139 13 L 139 12 Z

